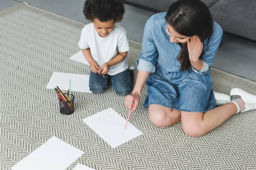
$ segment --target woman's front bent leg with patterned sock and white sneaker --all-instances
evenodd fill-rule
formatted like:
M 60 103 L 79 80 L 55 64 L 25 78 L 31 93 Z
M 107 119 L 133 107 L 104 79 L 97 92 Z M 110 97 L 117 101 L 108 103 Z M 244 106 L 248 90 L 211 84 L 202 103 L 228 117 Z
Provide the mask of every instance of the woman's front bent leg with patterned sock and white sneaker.
M 206 113 L 182 111 L 181 122 L 184 132 L 189 136 L 202 136 L 221 125 L 233 114 L 256 109 L 256 95 L 249 94 L 239 88 L 233 88 L 230 95 L 230 103 Z

